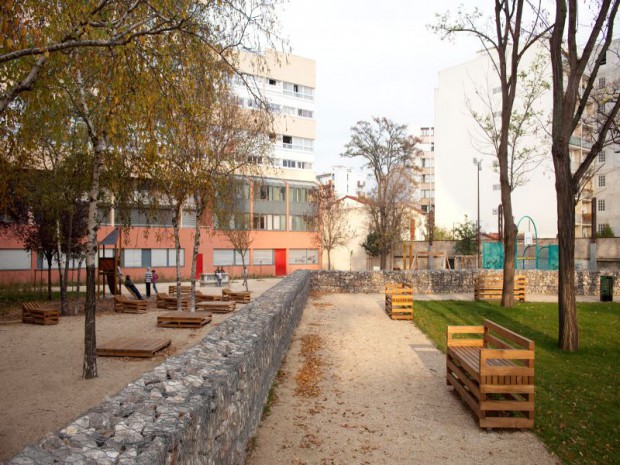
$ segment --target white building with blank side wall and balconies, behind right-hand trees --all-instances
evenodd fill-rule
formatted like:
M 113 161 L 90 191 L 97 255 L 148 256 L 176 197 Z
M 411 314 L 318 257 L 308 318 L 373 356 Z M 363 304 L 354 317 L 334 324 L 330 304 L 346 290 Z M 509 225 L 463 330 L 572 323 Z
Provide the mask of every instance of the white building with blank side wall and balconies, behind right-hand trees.
M 523 59 L 522 69 L 527 70 L 539 53 L 544 53 L 542 47 L 530 49 Z M 548 66 L 544 74 L 545 80 L 551 83 L 551 70 Z M 439 72 L 435 90 L 435 218 L 436 224 L 440 226 L 451 228 L 462 222 L 465 215 L 475 222 L 479 204 L 482 231 L 497 232 L 498 206 L 501 199 L 499 172 L 495 167 L 496 156 L 472 116 L 472 111 L 485 115 L 492 111 L 492 117 L 496 118 L 499 124 L 499 86 L 499 78 L 484 50 L 465 63 Z M 491 102 L 491 109 L 489 105 L 485 105 L 485 100 Z M 515 108 L 518 108 L 519 102 L 515 105 Z M 541 121 L 548 121 L 552 110 L 551 92 L 544 93 L 535 107 L 541 112 Z M 540 134 L 521 140 L 524 146 L 541 147 L 544 155 L 541 164 L 527 175 L 527 183 L 513 191 L 514 219 L 518 222 L 527 215 L 534 220 L 539 237 L 556 237 L 555 176 L 550 136 L 544 131 Z M 571 154 L 575 159 L 587 152 L 588 143 L 580 137 L 571 138 L 571 143 Z M 606 155 L 611 153 L 606 151 Z M 482 160 L 479 173 L 474 159 Z M 603 174 L 603 171 L 601 173 Z M 604 173 L 607 176 L 607 172 Z M 606 181 L 607 178 L 605 184 Z M 590 197 L 591 192 L 586 188 L 583 192 L 585 201 L 577 206 L 578 237 L 582 234 L 590 235 L 587 224 Z M 606 203 L 605 199 L 605 207 Z

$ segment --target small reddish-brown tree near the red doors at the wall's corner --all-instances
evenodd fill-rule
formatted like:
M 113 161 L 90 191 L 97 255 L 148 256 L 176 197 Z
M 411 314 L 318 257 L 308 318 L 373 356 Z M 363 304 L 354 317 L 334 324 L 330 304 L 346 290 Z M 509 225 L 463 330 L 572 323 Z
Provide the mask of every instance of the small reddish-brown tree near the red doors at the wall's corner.
M 317 235 L 315 243 L 327 251 L 327 269 L 332 269 L 331 252 L 344 247 L 353 237 L 343 199 L 337 199 L 332 186 L 321 186 L 315 192 Z

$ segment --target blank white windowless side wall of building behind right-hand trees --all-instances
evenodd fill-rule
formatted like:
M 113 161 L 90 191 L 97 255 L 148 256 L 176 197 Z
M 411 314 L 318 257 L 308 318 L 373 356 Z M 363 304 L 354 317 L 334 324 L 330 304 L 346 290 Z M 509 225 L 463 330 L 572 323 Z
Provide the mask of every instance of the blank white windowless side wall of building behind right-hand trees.
M 526 57 L 524 65 L 534 57 Z M 551 78 L 548 78 L 551 82 Z M 491 151 L 483 141 L 476 122 L 467 107 L 467 101 L 478 112 L 487 112 L 482 106 L 476 88 L 487 92 L 499 86 L 489 57 L 481 52 L 466 63 L 439 72 L 438 87 L 435 91 L 435 205 L 436 223 L 451 228 L 463 221 L 464 215 L 470 220 L 477 218 L 477 168 L 473 158 L 482 158 L 480 172 L 480 225 L 485 232 L 497 231 L 497 215 L 493 209 L 500 203 L 499 174 L 493 168 L 494 156 L 482 153 Z M 494 96 L 495 97 L 495 96 Z M 501 94 L 497 94 L 501 98 Z M 551 111 L 551 94 L 539 101 L 539 107 Z M 497 110 L 501 106 L 498 104 Z M 544 141 L 537 141 L 537 144 Z M 530 175 L 530 181 L 513 192 L 515 221 L 529 215 L 536 222 L 538 234 L 555 237 L 556 201 L 555 185 L 550 151 L 543 164 Z

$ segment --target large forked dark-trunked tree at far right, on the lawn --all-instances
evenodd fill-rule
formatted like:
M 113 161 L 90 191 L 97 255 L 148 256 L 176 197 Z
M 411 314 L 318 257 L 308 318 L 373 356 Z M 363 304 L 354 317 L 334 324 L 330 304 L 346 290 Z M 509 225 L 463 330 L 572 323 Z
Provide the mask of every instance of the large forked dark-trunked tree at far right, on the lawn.
M 593 144 L 583 160 L 574 160 L 570 138 L 591 111 L 591 96 L 598 71 L 605 63 L 613 38 L 614 22 L 620 2 L 601 0 L 592 11 L 593 20 L 584 43 L 577 45 L 580 24 L 579 5 L 575 1 L 556 0 L 555 21 L 549 39 L 553 75 L 553 117 L 551 155 L 555 168 L 558 213 L 558 345 L 567 351 L 579 349 L 579 328 L 575 300 L 575 198 L 582 179 L 605 146 L 607 136 L 615 127 L 620 99 L 610 102 L 610 109 L 601 118 L 593 135 Z M 571 162 L 577 169 L 571 171 Z

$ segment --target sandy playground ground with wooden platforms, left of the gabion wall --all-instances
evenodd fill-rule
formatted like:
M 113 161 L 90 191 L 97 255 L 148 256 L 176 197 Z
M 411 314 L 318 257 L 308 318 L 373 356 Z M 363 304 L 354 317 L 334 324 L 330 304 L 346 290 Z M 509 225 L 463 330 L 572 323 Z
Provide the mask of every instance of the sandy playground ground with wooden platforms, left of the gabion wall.
M 279 280 L 250 280 L 253 298 Z M 241 290 L 239 283 L 230 286 Z M 168 288 L 160 284 L 160 290 Z M 205 293 L 219 294 L 208 287 Z M 172 345 L 152 359 L 98 357 L 99 377 L 83 380 L 84 317 L 61 318 L 60 324 L 38 326 L 22 323 L 0 325 L 0 461 L 8 460 L 24 446 L 50 431 L 63 428 L 106 396 L 123 389 L 167 356 L 182 352 L 204 337 L 228 315 L 213 315 L 201 329 L 170 329 L 156 326 L 155 298 L 149 312 L 141 315 L 97 315 L 97 342 L 117 336 L 166 337 Z M 237 308 L 241 308 L 240 304 Z

